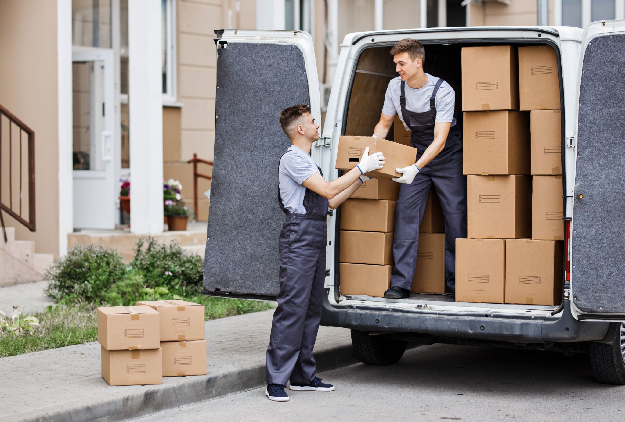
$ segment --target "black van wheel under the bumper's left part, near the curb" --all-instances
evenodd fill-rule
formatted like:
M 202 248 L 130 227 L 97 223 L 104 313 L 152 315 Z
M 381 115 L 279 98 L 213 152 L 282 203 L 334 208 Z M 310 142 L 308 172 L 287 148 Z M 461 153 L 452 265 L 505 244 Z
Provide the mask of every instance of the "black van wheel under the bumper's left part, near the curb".
M 367 365 L 386 366 L 397 363 L 406 351 L 406 340 L 395 340 L 386 335 L 370 336 L 367 331 L 351 330 L 356 356 Z

